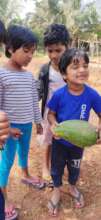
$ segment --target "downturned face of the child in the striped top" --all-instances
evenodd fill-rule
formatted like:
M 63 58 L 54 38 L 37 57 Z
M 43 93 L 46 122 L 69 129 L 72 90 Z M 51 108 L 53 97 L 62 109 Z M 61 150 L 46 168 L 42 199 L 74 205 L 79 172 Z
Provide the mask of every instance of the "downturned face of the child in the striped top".
M 11 52 L 10 59 L 20 67 L 27 66 L 30 63 L 35 50 L 36 50 L 36 46 L 20 47 L 15 52 L 10 51 Z

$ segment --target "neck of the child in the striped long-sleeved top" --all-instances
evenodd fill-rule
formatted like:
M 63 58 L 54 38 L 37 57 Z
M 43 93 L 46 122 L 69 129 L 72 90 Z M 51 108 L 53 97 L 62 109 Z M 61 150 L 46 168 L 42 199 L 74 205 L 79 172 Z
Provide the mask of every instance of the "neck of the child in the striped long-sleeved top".
M 8 60 L 5 66 L 10 70 L 23 71 L 22 66 L 18 65 L 16 62 L 12 61 L 11 59 Z

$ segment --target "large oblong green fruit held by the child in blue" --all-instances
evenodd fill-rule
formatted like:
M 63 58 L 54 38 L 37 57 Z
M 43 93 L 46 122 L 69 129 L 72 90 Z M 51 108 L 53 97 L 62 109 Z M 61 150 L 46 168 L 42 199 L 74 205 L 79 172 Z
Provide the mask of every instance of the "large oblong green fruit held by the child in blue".
M 81 148 L 96 144 L 98 139 L 96 128 L 83 120 L 64 121 L 54 128 L 54 133 Z

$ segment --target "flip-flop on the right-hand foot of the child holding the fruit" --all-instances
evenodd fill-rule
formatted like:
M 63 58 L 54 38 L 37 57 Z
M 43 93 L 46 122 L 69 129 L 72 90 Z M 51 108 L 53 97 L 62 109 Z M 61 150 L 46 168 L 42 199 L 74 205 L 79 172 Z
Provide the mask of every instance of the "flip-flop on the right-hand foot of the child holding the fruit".
M 78 196 L 72 196 L 74 203 L 75 203 L 75 208 L 83 208 L 84 207 L 84 199 L 83 199 L 83 194 L 78 191 Z

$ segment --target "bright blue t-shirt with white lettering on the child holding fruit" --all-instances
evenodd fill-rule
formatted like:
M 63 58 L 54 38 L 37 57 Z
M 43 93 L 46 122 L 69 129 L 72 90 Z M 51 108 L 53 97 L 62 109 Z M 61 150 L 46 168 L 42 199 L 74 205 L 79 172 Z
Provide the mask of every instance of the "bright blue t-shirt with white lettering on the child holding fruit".
M 96 114 L 101 113 L 101 96 L 87 85 L 84 85 L 81 95 L 72 95 L 66 85 L 53 94 L 47 106 L 56 113 L 58 123 L 73 119 L 88 121 L 91 109 Z M 73 146 L 63 139 L 59 139 L 59 142 L 68 147 Z

